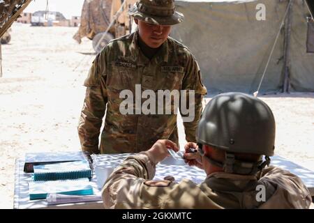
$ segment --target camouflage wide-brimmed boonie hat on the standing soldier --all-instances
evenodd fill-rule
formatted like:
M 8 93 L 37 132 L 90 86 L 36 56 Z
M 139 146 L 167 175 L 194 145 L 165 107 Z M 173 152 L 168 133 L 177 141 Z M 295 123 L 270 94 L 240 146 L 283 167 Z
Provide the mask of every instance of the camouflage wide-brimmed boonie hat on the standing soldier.
M 175 10 L 174 0 L 140 0 L 128 14 L 137 20 L 165 26 L 184 20 L 184 15 Z

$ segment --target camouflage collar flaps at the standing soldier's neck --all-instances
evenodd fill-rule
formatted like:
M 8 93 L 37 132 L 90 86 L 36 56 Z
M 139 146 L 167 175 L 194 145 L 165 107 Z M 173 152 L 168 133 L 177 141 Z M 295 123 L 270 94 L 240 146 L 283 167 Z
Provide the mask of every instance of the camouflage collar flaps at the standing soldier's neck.
M 138 45 L 138 31 L 135 31 L 133 35 L 132 43 L 130 44 L 130 52 L 132 52 L 133 61 L 140 61 L 140 46 Z M 151 61 L 155 61 L 156 63 L 160 63 L 160 61 L 167 62 L 168 61 L 168 41 L 169 38 L 161 45 L 161 48 L 158 50 L 156 55 L 151 59 Z M 142 54 L 142 53 L 141 53 Z

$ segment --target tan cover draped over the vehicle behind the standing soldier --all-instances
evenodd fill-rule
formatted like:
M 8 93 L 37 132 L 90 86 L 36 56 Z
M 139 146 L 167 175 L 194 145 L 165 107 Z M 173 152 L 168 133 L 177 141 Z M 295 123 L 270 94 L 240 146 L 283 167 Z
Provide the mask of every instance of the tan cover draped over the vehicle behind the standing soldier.
M 82 7 L 80 28 L 73 38 L 81 43 L 83 37 L 93 39 L 106 31 L 110 24 L 112 0 L 85 0 Z

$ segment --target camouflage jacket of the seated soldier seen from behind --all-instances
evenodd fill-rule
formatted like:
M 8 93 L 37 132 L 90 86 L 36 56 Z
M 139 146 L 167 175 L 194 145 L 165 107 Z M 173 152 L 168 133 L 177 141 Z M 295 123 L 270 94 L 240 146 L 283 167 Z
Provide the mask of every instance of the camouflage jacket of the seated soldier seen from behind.
M 155 164 L 145 153 L 114 169 L 103 190 L 105 208 L 309 208 L 311 194 L 301 179 L 278 167 L 262 176 L 216 172 L 196 185 L 184 179 L 151 180 Z M 175 176 L 174 176 L 175 177 Z M 258 186 L 258 187 L 257 187 Z M 258 194 L 264 187 L 264 195 Z

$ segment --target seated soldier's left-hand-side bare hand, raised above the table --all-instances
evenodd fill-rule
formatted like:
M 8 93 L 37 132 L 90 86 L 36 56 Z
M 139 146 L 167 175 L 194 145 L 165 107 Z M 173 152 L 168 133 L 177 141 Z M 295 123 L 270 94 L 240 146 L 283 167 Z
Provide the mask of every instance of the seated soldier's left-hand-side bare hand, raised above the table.
M 151 146 L 151 148 L 147 151 L 150 157 L 154 159 L 154 162 L 157 164 L 158 162 L 165 159 L 165 157 L 170 156 L 168 149 L 172 149 L 173 151 L 179 151 L 177 144 L 168 139 L 159 139 L 156 143 Z

